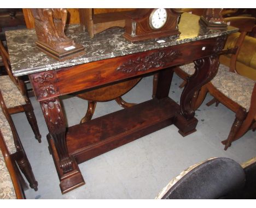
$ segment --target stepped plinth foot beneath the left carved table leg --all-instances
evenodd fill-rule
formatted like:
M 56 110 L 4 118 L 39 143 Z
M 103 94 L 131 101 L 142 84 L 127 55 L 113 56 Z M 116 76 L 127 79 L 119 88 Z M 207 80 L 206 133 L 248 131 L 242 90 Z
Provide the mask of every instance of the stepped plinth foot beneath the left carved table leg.
M 73 170 L 71 172 L 68 172 L 67 174 L 64 174 L 63 170 L 60 168 L 60 159 L 57 155 L 55 144 L 50 134 L 47 135 L 47 140 L 48 140 L 49 149 L 53 156 L 54 164 L 60 179 L 61 193 L 65 194 L 69 191 L 72 191 L 74 188 L 83 186 L 85 184 L 85 181 L 74 158 L 72 157 Z

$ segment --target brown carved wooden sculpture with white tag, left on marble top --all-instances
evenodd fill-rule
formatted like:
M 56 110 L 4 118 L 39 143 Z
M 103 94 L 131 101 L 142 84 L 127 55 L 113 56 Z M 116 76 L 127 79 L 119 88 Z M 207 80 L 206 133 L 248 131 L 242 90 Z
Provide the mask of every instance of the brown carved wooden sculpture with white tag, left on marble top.
M 84 53 L 84 47 L 65 33 L 66 9 L 32 9 L 38 41 L 37 47 L 57 60 L 66 60 Z

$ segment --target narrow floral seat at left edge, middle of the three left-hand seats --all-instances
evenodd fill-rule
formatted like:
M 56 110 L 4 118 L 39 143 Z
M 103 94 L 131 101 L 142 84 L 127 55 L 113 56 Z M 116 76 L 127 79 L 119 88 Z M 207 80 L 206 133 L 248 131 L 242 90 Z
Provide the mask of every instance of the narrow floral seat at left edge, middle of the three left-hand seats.
M 10 125 L 1 107 L 0 107 L 0 130 L 3 134 L 3 138 L 5 141 L 5 144 L 7 145 L 8 151 L 10 152 L 10 154 L 14 154 L 16 152 L 16 147 L 13 140 L 13 133 L 11 132 Z

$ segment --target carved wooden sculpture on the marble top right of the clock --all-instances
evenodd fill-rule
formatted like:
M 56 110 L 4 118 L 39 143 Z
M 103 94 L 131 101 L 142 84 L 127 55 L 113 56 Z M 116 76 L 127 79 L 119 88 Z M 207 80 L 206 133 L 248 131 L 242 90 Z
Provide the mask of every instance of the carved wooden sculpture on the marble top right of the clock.
M 227 25 L 222 17 L 222 9 L 205 9 L 199 22 L 207 29 L 226 29 Z

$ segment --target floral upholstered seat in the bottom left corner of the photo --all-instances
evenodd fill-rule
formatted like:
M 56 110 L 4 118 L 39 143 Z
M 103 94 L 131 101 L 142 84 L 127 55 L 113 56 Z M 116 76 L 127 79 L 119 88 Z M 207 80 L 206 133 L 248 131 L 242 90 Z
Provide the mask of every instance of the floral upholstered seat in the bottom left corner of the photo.
M 13 182 L 0 151 L 0 199 L 16 199 Z

